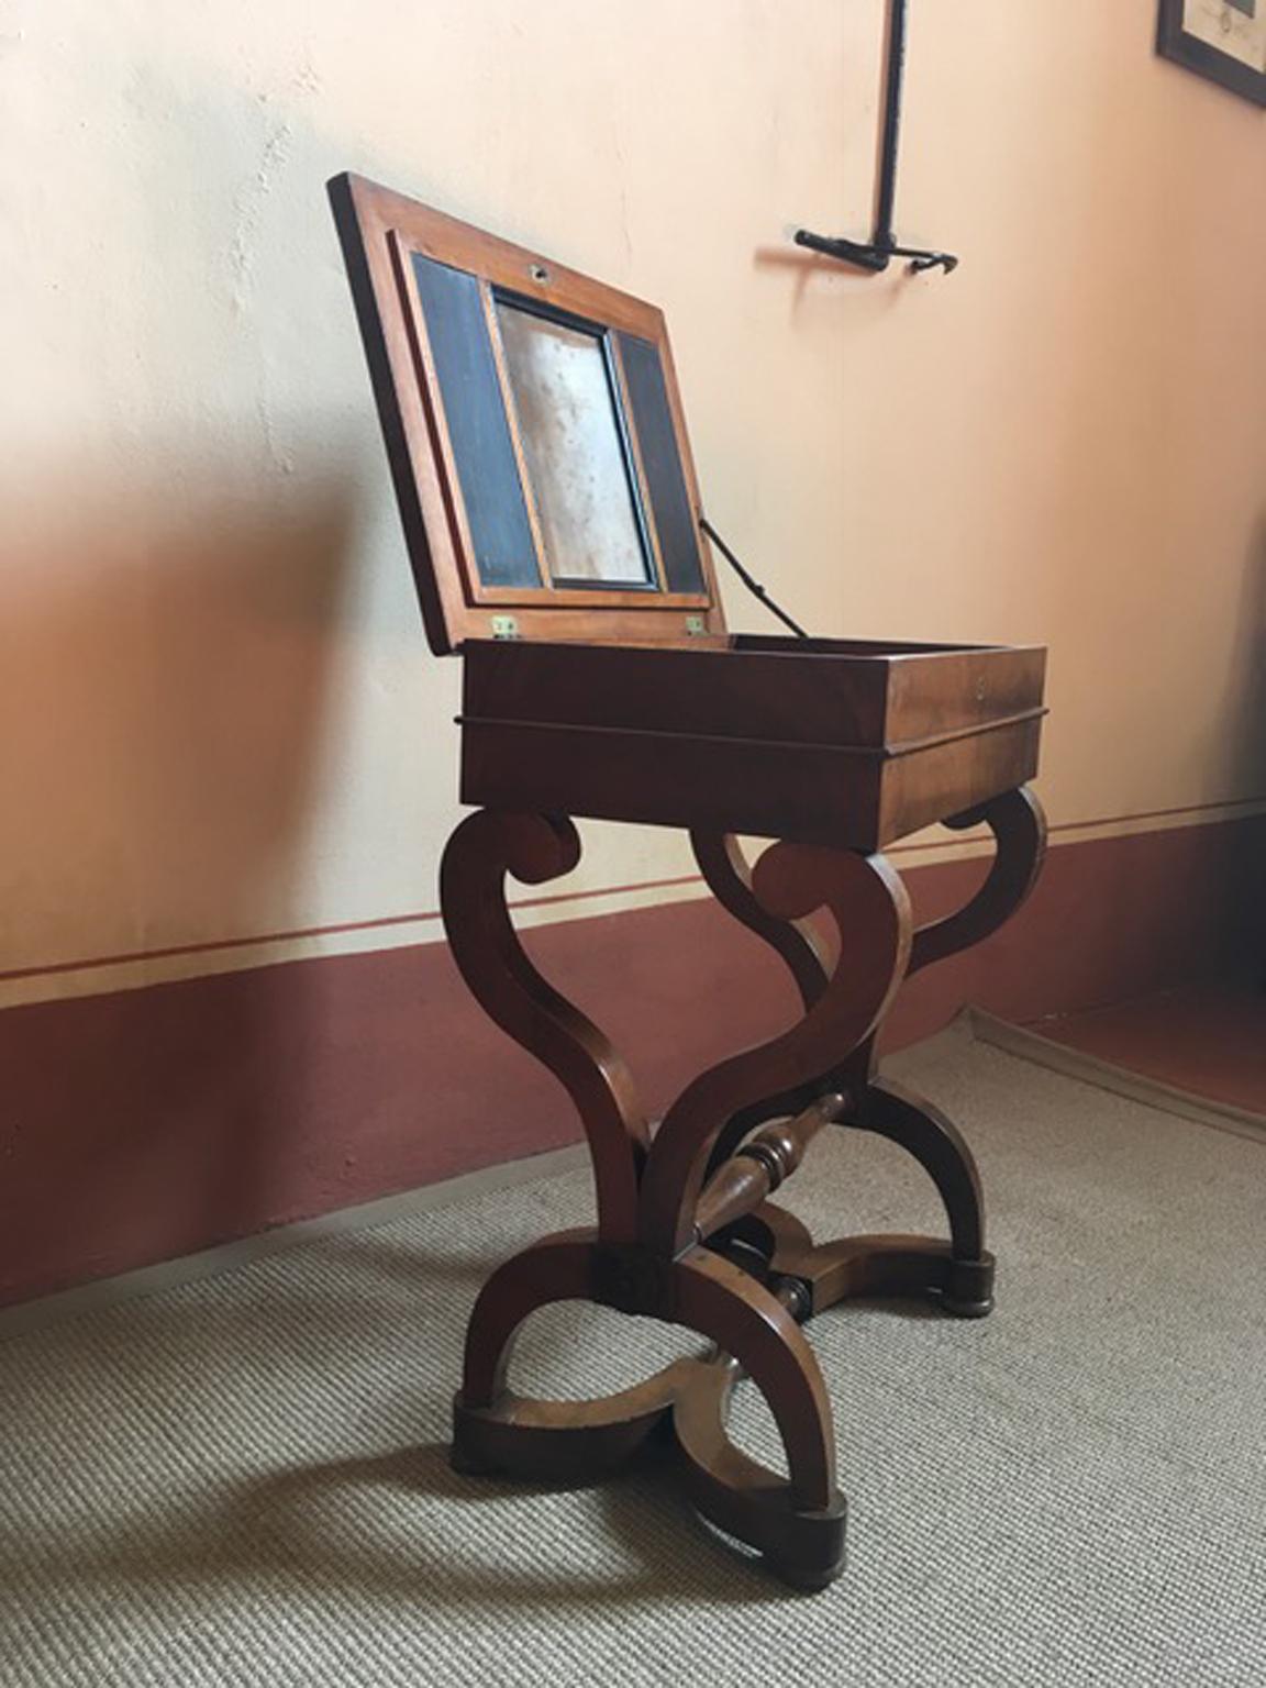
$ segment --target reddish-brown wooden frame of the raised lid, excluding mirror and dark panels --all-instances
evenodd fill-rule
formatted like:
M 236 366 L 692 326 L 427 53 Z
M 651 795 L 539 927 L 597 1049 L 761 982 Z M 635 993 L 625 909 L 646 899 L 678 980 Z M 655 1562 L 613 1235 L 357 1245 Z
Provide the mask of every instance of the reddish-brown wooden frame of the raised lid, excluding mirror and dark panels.
M 363 177 L 334 177 L 329 196 L 432 650 L 446 653 L 468 638 L 495 636 L 495 614 L 500 623 L 503 619 L 500 613 L 506 609 L 513 611 L 520 638 L 687 643 L 699 633 L 724 635 L 711 552 L 697 528 L 699 488 L 663 314 L 630 294 L 604 287 Z M 542 584 L 488 586 L 479 579 L 436 356 L 414 275 L 415 253 L 476 277 L 484 314 L 493 319 L 493 331 L 496 331 L 498 292 L 522 297 L 528 306 L 535 302 L 549 316 L 571 316 L 611 331 L 606 346 L 614 375 L 613 390 L 616 402 L 623 402 L 621 425 L 628 430 L 630 476 L 635 496 L 641 503 L 652 579 L 658 584 L 658 591 L 655 584 L 554 586 L 542 572 L 540 523 L 532 506 L 532 484 L 525 473 L 523 446 L 517 437 L 511 395 L 505 385 L 505 356 L 498 333 L 491 333 L 490 341 L 495 358 L 500 358 L 498 380 L 506 400 L 506 420 L 528 523 L 533 528 Z M 665 589 L 665 562 L 638 430 L 633 424 L 618 333 L 648 341 L 660 358 L 677 454 L 695 517 L 694 537 L 702 592 Z

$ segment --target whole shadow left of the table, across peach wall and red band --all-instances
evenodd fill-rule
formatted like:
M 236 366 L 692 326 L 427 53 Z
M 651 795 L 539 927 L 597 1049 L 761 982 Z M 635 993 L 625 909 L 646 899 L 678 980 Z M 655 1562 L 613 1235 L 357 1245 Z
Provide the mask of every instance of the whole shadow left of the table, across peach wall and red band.
M 5 513 L 5 977 L 275 927 L 302 888 L 351 491 L 336 473 L 275 500 L 211 481 L 192 452 L 118 490 L 71 464 Z M 0 1013 L 0 1283 L 41 1254 L 83 1273 L 147 1205 L 203 1237 L 299 1153 L 260 1129 L 267 1021 L 241 1018 L 211 1069 L 172 1060 L 164 1016 L 122 1040 L 89 1011 L 162 994 Z

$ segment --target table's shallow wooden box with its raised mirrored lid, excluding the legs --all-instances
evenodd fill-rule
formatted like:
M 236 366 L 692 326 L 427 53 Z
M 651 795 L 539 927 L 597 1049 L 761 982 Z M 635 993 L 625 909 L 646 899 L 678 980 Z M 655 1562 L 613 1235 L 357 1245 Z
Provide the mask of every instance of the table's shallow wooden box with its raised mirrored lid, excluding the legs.
M 871 851 L 1035 773 L 1040 648 L 726 631 L 655 306 L 331 197 L 464 802 Z

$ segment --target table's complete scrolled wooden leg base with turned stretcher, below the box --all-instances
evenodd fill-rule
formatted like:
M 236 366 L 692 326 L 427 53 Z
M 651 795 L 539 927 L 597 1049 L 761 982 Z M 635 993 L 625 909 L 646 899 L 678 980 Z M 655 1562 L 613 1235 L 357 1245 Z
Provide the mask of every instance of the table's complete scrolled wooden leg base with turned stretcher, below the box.
M 457 966 L 488 1014 L 571 1092 L 592 1150 L 599 1227 L 545 1239 L 484 1286 L 454 1403 L 454 1463 L 589 1479 L 670 1425 L 704 1516 L 763 1551 L 797 1587 L 819 1588 L 837 1575 L 846 1506 L 836 1485 L 830 1406 L 800 1322 L 851 1295 L 932 1293 L 964 1317 L 993 1305 L 993 1258 L 966 1143 L 935 1107 L 873 1077 L 874 1028 L 906 966 L 977 942 L 1033 883 L 1043 829 L 1028 793 L 1008 793 L 950 824 L 977 820 L 998 839 L 986 885 L 959 913 L 913 939 L 905 890 L 881 856 L 775 844 L 748 873 L 731 839 L 695 837 L 707 883 L 783 957 L 805 1014 L 790 1031 L 687 1085 L 653 1146 L 623 1062 L 537 974 L 505 906 L 506 873 L 542 883 L 576 863 L 574 827 L 491 812 L 459 827 L 442 883 Z M 847 940 L 847 955 L 834 964 L 807 923 L 819 908 L 836 923 L 841 955 Z M 743 1143 L 753 1128 L 785 1116 L 795 1117 Z M 798 1220 L 763 1198 L 830 1119 L 900 1143 L 927 1168 L 949 1214 L 949 1242 L 846 1237 L 819 1247 Z M 738 1165 L 719 1171 L 741 1143 Z M 712 1247 L 701 1242 L 709 1227 Z M 717 1252 L 724 1249 L 734 1259 Z M 716 1354 L 677 1361 L 606 1399 L 515 1396 L 506 1388 L 515 1334 L 535 1308 L 559 1300 L 684 1325 L 712 1340 Z M 787 1477 L 748 1458 L 726 1435 L 731 1394 L 744 1374 L 775 1416 Z

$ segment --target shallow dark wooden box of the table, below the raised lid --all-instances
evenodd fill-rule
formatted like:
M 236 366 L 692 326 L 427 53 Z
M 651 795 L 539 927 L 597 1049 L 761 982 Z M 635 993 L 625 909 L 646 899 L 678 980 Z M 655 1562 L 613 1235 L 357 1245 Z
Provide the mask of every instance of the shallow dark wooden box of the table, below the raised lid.
M 873 851 L 1036 771 L 1045 652 L 466 645 L 463 802 Z

